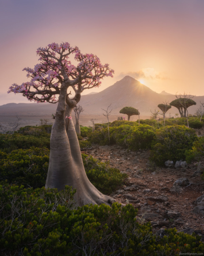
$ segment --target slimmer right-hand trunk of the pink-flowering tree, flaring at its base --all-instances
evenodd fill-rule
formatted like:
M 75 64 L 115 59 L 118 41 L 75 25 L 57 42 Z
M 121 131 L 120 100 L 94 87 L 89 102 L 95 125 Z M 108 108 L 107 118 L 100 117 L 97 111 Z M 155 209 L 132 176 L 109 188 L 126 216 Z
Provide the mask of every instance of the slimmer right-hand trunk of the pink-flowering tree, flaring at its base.
M 71 116 L 71 111 L 72 108 L 67 105 L 65 115 Z M 71 165 L 67 166 L 70 181 L 68 181 L 66 185 L 77 189 L 75 200 L 77 200 L 79 205 L 88 203 L 111 204 L 110 198 L 106 195 L 103 195 L 97 188 L 95 188 L 86 176 L 79 141 L 71 119 L 69 120 L 69 124 L 68 120 L 66 119 L 66 131 L 71 152 Z

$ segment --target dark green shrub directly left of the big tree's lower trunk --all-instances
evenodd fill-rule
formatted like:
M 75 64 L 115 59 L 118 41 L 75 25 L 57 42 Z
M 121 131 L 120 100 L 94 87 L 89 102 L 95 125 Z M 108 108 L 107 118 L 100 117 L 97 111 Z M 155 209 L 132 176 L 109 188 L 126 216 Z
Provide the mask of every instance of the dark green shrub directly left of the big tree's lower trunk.
M 50 151 L 32 147 L 15 150 L 10 154 L 0 151 L 0 180 L 26 187 L 45 186 Z

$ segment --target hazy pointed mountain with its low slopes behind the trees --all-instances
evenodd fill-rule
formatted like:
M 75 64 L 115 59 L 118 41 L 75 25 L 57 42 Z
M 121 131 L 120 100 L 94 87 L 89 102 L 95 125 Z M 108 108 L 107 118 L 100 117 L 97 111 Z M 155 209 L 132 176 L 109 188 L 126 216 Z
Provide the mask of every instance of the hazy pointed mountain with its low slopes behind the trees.
M 114 85 L 109 86 L 103 91 L 95 94 L 82 95 L 79 102 L 82 105 L 83 115 L 102 114 L 102 109 L 106 109 L 111 104 L 112 114 L 120 115 L 119 111 L 124 106 L 132 106 L 139 109 L 141 115 L 150 115 L 150 110 L 158 109 L 157 105 L 165 101 L 171 102 L 175 99 L 172 94 L 159 94 L 149 87 L 141 84 L 131 76 L 125 76 Z M 199 107 L 200 101 L 204 102 L 204 96 L 195 96 L 193 98 L 197 105 L 189 108 L 189 113 L 194 114 Z M 0 106 L 1 115 L 41 115 L 55 113 L 56 104 L 50 103 L 9 103 Z M 178 113 L 177 109 L 172 107 L 171 114 Z

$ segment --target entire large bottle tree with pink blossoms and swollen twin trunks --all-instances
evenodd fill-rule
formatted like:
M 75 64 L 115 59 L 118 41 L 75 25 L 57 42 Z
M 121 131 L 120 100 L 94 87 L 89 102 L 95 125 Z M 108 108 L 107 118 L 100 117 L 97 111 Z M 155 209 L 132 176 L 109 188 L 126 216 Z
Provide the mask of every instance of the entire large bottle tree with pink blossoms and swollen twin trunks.
M 69 55 L 74 54 L 74 66 Z M 38 48 L 39 63 L 24 68 L 30 82 L 13 84 L 8 93 L 22 93 L 30 101 L 57 103 L 56 115 L 50 138 L 50 161 L 46 188 L 64 189 L 66 185 L 77 189 L 75 199 L 79 205 L 111 203 L 111 199 L 98 191 L 88 180 L 81 157 L 77 133 L 71 118 L 72 109 L 80 101 L 85 89 L 99 87 L 105 76 L 113 77 L 114 70 L 102 65 L 93 54 L 82 54 L 69 43 L 49 44 Z M 68 88 L 75 92 L 69 97 Z M 58 95 L 58 99 L 55 97 Z

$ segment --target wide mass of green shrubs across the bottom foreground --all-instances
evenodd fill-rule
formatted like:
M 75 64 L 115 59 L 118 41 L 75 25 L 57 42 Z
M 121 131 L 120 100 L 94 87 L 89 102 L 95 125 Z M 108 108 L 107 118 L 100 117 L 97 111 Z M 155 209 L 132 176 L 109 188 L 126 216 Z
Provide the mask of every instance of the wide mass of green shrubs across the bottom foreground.
M 156 237 L 137 209 L 118 203 L 75 207 L 75 190 L 0 184 L 0 248 L 4 255 L 156 256 L 203 253 L 200 237 L 176 229 Z

